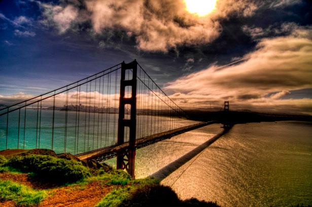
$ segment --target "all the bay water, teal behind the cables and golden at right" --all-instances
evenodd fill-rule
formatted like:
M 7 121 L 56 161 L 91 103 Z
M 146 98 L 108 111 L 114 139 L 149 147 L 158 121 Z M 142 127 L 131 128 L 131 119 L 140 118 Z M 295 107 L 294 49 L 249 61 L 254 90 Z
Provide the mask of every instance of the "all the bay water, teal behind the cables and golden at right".
M 8 148 L 36 147 L 37 111 L 27 110 L 26 131 L 21 115 L 20 131 L 18 117 L 9 117 Z M 54 150 L 64 149 L 64 112 L 55 112 Z M 117 117 L 103 114 L 110 125 L 102 131 L 94 125 L 101 114 L 81 113 L 78 128 L 75 128 L 76 113 L 68 112 L 66 151 L 83 152 L 116 142 Z M 51 148 L 51 111 L 42 116 L 40 148 Z M 169 127 L 167 117 L 158 117 L 157 127 L 143 128 L 154 117 L 137 116 L 142 125 L 137 134 L 144 131 L 161 131 Z M 90 120 L 90 122 L 89 122 Z M 6 120 L 0 120 L 0 148 L 6 146 Z M 88 128 L 85 125 L 88 124 Z M 182 126 L 184 120 L 178 120 Z M 223 131 L 220 124 L 192 130 L 171 139 L 138 149 L 135 159 L 136 178 L 159 176 L 167 171 L 161 181 L 172 187 L 182 199 L 191 197 L 206 201 L 217 201 L 221 206 L 291 206 L 312 205 L 312 124 L 308 122 L 262 122 L 236 124 L 209 147 L 199 151 L 216 134 Z M 170 128 L 170 127 L 169 127 Z M 154 130 L 154 131 L 153 131 Z M 140 132 L 139 132 L 140 131 Z M 19 144 L 17 135 L 20 135 Z M 107 141 L 97 140 L 98 134 L 108 136 Z M 77 133 L 78 134 L 78 133 Z M 85 137 L 86 134 L 86 137 Z M 89 137 L 87 136 L 89 134 Z M 141 134 L 142 135 L 142 134 Z M 37 137 L 37 145 L 39 145 Z M 86 147 L 87 146 L 87 147 Z M 191 154 L 190 154 L 191 153 Z M 186 155 L 189 155 L 187 158 Z M 176 161 L 179 160 L 180 164 Z M 107 161 L 116 165 L 116 159 Z M 165 169 L 165 170 L 163 170 Z

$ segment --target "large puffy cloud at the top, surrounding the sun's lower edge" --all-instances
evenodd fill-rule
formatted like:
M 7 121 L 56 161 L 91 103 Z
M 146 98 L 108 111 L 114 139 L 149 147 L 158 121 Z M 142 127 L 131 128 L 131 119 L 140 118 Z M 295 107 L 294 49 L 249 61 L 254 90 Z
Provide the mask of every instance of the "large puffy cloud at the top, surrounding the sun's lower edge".
M 73 1 L 41 5 L 43 22 L 55 25 L 60 33 L 75 24 L 90 21 L 96 33 L 122 30 L 128 37 L 135 38 L 138 49 L 152 52 L 211 43 L 222 31 L 220 19 L 230 15 L 251 16 L 257 9 L 247 0 L 219 0 L 215 12 L 199 18 L 186 11 L 183 1 L 173 0 L 88 0 L 81 4 Z

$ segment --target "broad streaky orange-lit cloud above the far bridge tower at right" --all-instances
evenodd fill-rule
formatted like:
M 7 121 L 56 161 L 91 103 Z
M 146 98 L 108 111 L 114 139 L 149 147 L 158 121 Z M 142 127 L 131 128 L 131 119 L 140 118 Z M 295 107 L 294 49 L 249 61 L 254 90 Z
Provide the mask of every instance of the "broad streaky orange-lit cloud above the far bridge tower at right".
M 261 39 L 246 60 L 235 65 L 209 68 L 167 84 L 184 107 L 204 107 L 209 101 L 229 99 L 244 108 L 274 110 L 312 107 L 309 98 L 280 99 L 291 90 L 312 88 L 312 28 L 298 27 L 289 36 Z M 267 96 L 269 93 L 274 93 Z M 180 94 L 175 97 L 175 94 Z M 184 102 L 184 103 L 183 103 Z M 283 107 L 282 107 L 283 108 Z M 281 108 L 281 109 L 282 109 Z

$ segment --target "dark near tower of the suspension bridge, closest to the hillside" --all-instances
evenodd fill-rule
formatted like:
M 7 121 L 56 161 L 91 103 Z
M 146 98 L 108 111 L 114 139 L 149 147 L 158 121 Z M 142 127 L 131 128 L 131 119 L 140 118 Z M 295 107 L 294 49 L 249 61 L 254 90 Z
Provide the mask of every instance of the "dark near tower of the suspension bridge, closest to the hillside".
M 130 70 L 132 79 L 126 79 L 126 71 Z M 121 63 L 120 99 L 118 117 L 118 145 L 129 141 L 129 147 L 117 155 L 117 169 L 126 169 L 129 175 L 134 178 L 135 158 L 135 129 L 136 129 L 136 60 L 130 63 Z M 130 74 L 130 73 L 128 73 Z M 130 78 L 130 77 L 127 77 Z M 131 97 L 125 97 L 126 87 L 131 87 Z M 128 94 L 129 95 L 129 94 Z M 130 106 L 130 118 L 125 118 L 125 106 Z M 125 127 L 129 128 L 129 137 L 125 137 Z M 127 135 L 127 134 L 126 134 Z

